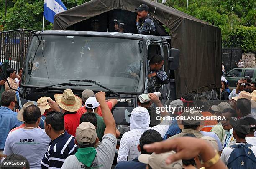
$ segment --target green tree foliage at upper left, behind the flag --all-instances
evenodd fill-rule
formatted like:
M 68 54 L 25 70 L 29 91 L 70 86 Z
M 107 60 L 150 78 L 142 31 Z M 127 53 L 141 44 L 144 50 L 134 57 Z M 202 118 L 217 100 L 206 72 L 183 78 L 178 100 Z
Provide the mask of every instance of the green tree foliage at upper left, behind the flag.
M 67 9 L 89 0 L 62 0 Z M 5 0 L 0 2 L 0 25 L 4 30 L 26 28 L 42 30 L 44 0 L 7 0 L 8 10 L 4 16 Z M 52 24 L 44 20 L 44 30 L 52 29 Z M 0 28 L 1 29 L 1 28 Z

